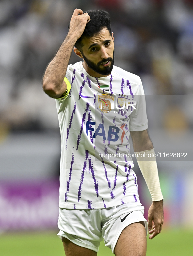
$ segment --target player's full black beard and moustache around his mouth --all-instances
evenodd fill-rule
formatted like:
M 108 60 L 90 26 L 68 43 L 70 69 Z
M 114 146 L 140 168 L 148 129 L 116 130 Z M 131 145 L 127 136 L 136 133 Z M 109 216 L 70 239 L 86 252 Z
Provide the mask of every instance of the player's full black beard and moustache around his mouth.
M 114 51 L 113 51 L 113 58 L 107 58 L 107 59 L 103 59 L 101 60 L 100 62 L 98 62 L 97 64 L 95 64 L 94 62 L 92 62 L 91 60 L 88 60 L 84 54 L 82 53 L 82 56 L 84 58 L 84 61 L 86 62 L 87 66 L 89 68 L 91 68 L 92 70 L 94 70 L 95 72 L 101 74 L 101 75 L 105 75 L 105 76 L 108 76 L 111 74 L 111 71 L 113 69 L 113 65 L 114 65 Z M 100 67 L 100 64 L 102 64 L 103 62 L 106 62 L 106 61 L 111 61 L 110 65 L 108 67 L 103 67 L 101 68 Z

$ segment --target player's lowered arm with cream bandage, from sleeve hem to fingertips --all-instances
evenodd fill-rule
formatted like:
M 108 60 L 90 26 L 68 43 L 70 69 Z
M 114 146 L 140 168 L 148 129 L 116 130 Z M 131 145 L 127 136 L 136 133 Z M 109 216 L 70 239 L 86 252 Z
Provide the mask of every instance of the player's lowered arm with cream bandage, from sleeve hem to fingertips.
M 138 153 L 138 156 L 136 156 L 137 162 L 152 196 L 153 202 L 148 210 L 148 231 L 150 234 L 149 238 L 152 239 L 161 232 L 164 222 L 163 196 L 160 189 L 157 163 L 156 159 L 153 157 L 150 161 L 149 159 L 142 159 L 142 161 L 140 161 L 140 154 L 154 153 L 153 144 L 147 130 L 130 131 L 130 134 L 133 141 L 134 152 Z M 153 222 L 154 225 L 152 224 Z

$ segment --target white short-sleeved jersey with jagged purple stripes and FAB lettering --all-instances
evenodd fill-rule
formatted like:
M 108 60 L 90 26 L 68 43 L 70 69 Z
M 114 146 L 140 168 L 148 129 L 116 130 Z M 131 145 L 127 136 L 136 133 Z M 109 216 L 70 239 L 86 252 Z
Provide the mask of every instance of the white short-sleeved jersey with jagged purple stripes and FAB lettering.
M 59 207 L 101 209 L 139 201 L 127 153 L 129 131 L 148 128 L 145 101 L 138 96 L 144 95 L 140 78 L 116 66 L 107 77 L 91 77 L 82 62 L 68 65 L 66 78 L 71 88 L 56 99 L 62 149 Z M 116 112 L 115 106 L 121 108 L 128 99 L 135 106 Z M 121 161 L 114 157 L 119 153 Z

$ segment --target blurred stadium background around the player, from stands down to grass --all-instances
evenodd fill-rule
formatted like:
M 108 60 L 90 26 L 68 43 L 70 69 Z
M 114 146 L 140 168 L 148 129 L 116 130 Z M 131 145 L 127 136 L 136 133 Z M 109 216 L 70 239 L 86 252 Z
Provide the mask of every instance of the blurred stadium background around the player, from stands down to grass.
M 56 236 L 60 132 L 41 77 L 75 8 L 109 11 L 115 65 L 142 79 L 156 152 L 187 152 L 158 161 L 165 223 L 147 255 L 193 255 L 192 0 L 0 1 L 0 255 L 64 255 Z M 150 195 L 134 168 L 147 217 Z M 102 244 L 99 255 L 108 253 Z

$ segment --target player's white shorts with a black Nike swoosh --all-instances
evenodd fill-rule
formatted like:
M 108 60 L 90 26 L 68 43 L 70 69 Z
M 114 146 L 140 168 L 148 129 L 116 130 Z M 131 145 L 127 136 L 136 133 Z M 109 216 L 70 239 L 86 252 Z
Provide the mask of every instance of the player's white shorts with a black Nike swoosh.
M 81 247 L 98 252 L 100 242 L 114 252 L 117 240 L 125 227 L 144 221 L 147 235 L 147 220 L 141 203 L 130 202 L 105 209 L 70 210 L 59 209 L 58 227 L 62 236 Z

